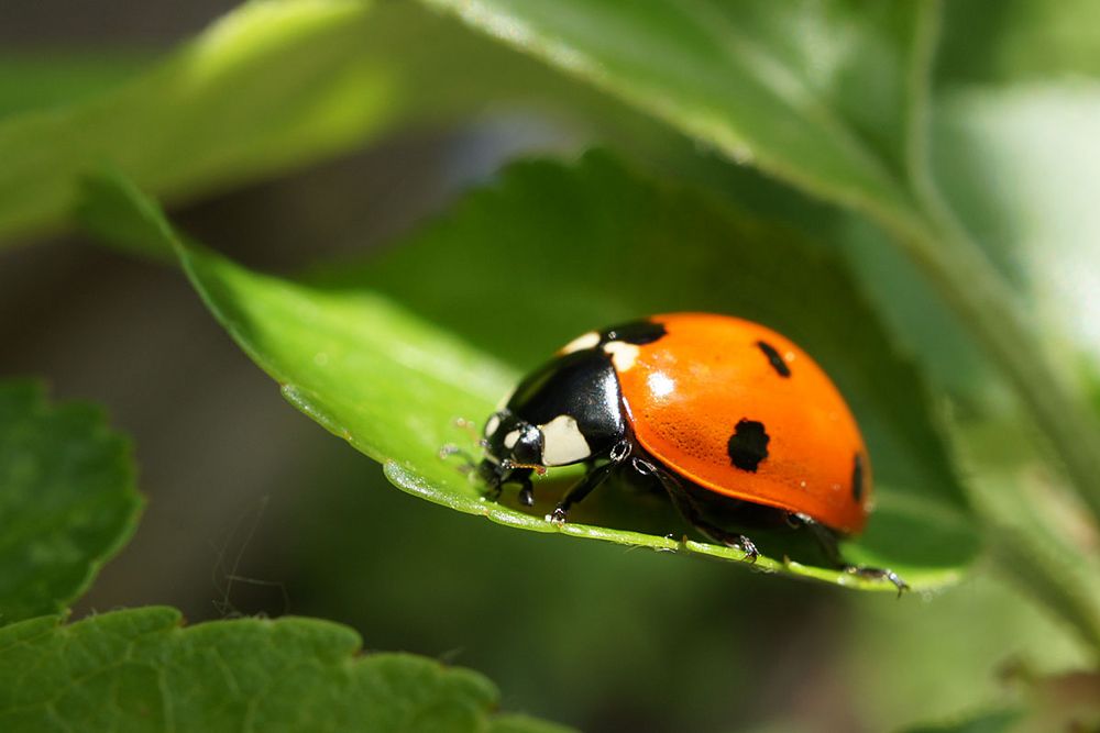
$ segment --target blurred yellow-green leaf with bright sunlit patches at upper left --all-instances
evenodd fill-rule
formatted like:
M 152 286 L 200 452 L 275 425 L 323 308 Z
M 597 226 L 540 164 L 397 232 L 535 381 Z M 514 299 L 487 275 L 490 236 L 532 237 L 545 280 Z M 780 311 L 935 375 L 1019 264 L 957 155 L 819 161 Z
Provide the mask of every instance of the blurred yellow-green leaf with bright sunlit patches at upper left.
M 245 3 L 87 101 L 0 119 L 0 242 L 66 222 L 105 167 L 178 201 L 307 165 L 400 126 L 557 109 L 651 135 L 641 115 L 415 3 Z

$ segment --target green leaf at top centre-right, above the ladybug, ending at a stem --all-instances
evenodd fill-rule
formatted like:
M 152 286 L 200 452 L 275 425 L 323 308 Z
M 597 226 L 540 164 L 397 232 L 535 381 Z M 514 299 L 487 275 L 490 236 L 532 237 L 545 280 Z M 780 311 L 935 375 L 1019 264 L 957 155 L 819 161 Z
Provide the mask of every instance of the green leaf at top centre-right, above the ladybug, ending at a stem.
M 826 199 L 905 229 L 934 2 L 426 0 Z

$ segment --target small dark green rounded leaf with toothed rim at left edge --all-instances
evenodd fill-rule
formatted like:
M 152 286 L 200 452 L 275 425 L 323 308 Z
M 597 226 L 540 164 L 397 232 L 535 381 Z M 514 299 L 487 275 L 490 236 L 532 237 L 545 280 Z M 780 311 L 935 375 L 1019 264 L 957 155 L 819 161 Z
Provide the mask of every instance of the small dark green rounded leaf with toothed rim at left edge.
M 0 623 L 64 610 L 130 538 L 141 503 L 130 445 L 101 410 L 0 381 Z

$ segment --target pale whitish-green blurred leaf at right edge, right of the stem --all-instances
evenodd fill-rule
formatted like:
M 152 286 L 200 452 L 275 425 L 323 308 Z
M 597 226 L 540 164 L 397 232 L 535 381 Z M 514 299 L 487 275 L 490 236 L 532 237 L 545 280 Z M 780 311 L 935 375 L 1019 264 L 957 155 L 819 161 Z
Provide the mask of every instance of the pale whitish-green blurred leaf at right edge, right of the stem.
M 945 191 L 1078 385 L 1100 374 L 1098 119 L 1100 84 L 1034 85 L 952 93 L 934 127 Z

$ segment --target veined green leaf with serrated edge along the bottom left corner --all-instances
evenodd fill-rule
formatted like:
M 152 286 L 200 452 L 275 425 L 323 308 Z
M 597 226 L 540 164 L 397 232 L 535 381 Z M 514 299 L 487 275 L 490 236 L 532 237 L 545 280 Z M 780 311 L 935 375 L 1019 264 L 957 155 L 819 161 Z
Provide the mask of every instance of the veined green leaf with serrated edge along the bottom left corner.
M 0 630 L 0 729 L 22 731 L 563 731 L 493 711 L 487 679 L 407 654 L 361 655 L 312 619 L 182 626 L 145 608 Z

